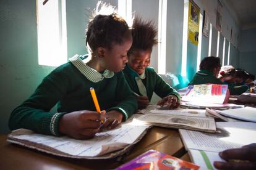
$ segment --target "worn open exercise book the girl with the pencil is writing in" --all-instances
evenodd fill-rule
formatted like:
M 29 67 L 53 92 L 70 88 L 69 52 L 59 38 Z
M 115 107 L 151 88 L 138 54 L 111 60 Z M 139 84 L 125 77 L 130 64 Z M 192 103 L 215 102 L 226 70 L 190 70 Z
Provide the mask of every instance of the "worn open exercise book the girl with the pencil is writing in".
M 46 136 L 27 129 L 18 129 L 9 134 L 7 141 L 58 156 L 107 159 L 120 156 L 129 150 L 142 139 L 148 127 L 150 126 L 124 123 L 116 129 L 100 132 L 88 140 Z

